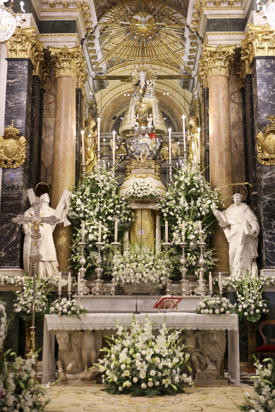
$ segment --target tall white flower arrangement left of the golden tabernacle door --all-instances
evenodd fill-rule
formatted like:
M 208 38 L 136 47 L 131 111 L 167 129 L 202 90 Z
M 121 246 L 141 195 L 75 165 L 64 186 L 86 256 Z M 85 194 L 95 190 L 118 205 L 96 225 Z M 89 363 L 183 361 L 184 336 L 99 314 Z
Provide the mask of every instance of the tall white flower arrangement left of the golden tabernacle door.
M 82 182 L 79 182 L 70 197 L 68 218 L 74 226 L 72 244 L 72 263 L 75 271 L 80 267 L 81 222 L 85 222 L 84 249 L 86 258 L 86 275 L 90 276 L 96 267 L 99 220 L 101 220 L 101 236 L 105 243 L 113 241 L 115 220 L 118 220 L 118 230 L 122 234 L 128 230 L 134 214 L 125 199 L 120 198 L 117 178 L 113 169 L 101 170 L 94 168 Z M 105 272 L 110 272 L 111 252 L 108 245 L 101 250 L 102 266 Z

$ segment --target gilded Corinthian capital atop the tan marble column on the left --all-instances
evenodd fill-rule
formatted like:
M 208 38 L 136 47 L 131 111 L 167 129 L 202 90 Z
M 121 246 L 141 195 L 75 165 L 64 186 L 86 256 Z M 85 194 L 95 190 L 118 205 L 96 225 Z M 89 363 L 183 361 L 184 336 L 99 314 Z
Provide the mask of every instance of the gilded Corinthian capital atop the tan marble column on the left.
M 83 82 L 87 80 L 87 63 L 82 57 L 82 49 L 76 47 L 51 47 L 48 46 L 52 56 L 52 65 L 56 77 L 73 76 L 78 79 L 78 87 L 81 89 Z

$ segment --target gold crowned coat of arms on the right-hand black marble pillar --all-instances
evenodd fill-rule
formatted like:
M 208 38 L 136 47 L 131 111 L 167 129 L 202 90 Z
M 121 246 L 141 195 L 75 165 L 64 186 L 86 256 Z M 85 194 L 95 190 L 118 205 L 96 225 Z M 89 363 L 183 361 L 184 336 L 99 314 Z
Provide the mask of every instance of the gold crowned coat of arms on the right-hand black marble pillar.
M 258 133 L 256 136 L 257 159 L 265 166 L 274 166 L 275 164 L 275 116 L 266 116 L 271 124 L 263 127 L 265 133 Z

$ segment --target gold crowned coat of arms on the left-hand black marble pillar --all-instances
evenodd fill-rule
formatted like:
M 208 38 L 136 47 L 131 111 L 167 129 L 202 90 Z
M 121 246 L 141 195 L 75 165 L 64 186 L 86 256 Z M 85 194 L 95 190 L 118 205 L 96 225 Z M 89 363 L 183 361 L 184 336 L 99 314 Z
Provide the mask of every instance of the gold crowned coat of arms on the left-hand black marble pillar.
M 26 139 L 19 136 L 19 130 L 12 125 L 6 127 L 4 136 L 0 136 L 0 166 L 16 169 L 22 166 L 26 157 Z

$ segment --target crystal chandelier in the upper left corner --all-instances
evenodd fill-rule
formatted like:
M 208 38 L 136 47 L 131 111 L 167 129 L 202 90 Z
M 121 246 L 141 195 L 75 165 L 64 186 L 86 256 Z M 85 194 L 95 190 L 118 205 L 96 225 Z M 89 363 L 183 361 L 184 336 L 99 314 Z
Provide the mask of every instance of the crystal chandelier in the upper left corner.
M 4 6 L 4 2 L 7 0 L 0 0 L 0 42 L 4 42 L 12 37 L 16 22 L 24 23 L 25 10 L 23 9 L 24 3 L 21 1 L 21 11 L 19 13 L 14 13 L 12 6 L 14 5 L 13 0 L 10 2 L 9 7 Z M 20 20 L 22 16 L 22 20 Z

